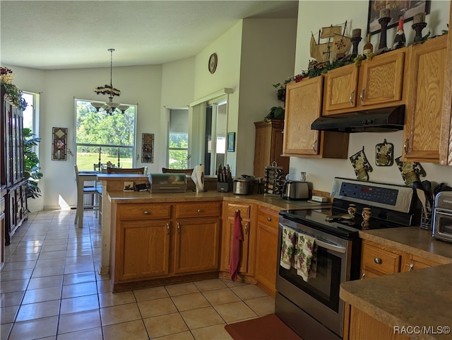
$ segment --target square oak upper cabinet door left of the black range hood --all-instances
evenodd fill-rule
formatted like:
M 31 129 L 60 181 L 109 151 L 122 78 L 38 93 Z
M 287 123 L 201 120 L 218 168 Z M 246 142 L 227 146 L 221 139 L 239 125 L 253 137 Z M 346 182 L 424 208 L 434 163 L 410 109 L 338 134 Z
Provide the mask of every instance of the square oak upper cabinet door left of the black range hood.
M 319 131 L 311 124 L 321 115 L 323 76 L 286 87 L 283 154 L 318 155 Z

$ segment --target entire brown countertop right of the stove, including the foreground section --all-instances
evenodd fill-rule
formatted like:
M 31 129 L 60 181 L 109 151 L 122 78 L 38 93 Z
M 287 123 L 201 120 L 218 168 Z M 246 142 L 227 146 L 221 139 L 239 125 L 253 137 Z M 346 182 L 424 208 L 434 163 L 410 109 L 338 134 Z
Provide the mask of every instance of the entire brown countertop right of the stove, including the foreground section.
M 412 339 L 452 339 L 437 328 L 452 327 L 452 244 L 419 227 L 365 230 L 359 235 L 444 265 L 348 281 L 340 285 L 340 298 L 389 327 L 431 326 L 436 332 L 406 334 Z

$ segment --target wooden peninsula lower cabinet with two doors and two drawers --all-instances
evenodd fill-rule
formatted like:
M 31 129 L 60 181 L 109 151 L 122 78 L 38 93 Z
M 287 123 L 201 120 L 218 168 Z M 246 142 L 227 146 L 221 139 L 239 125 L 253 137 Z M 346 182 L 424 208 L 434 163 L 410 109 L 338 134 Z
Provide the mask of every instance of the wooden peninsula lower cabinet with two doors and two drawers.
M 133 288 L 132 283 L 162 283 L 165 278 L 210 271 L 218 276 L 220 212 L 219 201 L 114 204 L 110 254 L 114 291 Z

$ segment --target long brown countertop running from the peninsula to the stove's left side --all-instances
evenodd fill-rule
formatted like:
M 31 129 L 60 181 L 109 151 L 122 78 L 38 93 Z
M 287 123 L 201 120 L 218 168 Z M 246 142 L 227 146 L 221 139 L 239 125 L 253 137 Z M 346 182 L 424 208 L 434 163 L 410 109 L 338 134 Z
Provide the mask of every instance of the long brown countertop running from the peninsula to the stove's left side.
M 112 203 L 158 203 L 158 202 L 184 202 L 184 201 L 239 201 L 251 204 L 260 204 L 276 211 L 289 209 L 321 209 L 328 208 L 330 204 L 316 204 L 308 201 L 287 201 L 280 197 L 268 197 L 263 194 L 236 195 L 232 192 L 216 192 L 208 190 L 207 192 L 187 191 L 173 194 L 152 194 L 150 192 L 108 192 Z

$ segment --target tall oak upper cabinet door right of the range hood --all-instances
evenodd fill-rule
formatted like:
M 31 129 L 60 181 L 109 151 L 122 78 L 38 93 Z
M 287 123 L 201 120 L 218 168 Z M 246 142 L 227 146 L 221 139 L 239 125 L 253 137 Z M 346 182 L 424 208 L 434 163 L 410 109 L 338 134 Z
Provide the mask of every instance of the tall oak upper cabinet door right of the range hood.
M 403 159 L 439 163 L 447 36 L 412 46 Z

